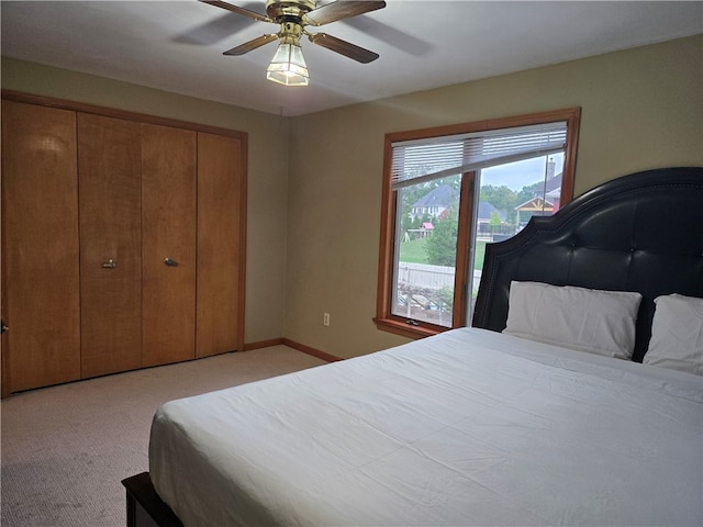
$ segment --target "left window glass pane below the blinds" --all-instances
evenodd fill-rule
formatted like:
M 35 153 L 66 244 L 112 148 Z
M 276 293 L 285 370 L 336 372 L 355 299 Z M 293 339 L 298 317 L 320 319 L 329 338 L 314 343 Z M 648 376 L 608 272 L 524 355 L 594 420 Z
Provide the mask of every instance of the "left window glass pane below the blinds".
M 451 327 L 461 177 L 399 189 L 392 314 Z

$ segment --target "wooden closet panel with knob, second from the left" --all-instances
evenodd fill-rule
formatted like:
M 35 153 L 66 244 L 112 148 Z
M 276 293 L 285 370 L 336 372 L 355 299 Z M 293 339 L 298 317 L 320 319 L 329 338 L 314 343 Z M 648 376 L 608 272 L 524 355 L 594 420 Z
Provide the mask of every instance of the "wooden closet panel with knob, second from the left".
M 82 377 L 142 366 L 142 127 L 78 113 Z

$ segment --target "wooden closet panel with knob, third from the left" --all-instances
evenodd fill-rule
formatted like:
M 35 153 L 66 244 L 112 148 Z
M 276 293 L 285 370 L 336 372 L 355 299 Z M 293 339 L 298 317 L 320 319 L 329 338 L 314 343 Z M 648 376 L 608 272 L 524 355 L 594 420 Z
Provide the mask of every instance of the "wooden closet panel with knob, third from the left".
M 142 125 L 144 366 L 194 358 L 196 147 L 193 131 Z

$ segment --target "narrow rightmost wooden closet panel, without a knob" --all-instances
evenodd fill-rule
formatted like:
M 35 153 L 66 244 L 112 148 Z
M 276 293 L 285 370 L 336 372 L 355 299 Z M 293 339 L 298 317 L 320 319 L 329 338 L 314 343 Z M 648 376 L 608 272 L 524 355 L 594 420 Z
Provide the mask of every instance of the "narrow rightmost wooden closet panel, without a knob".
M 242 156 L 239 139 L 198 134 L 197 357 L 238 347 Z

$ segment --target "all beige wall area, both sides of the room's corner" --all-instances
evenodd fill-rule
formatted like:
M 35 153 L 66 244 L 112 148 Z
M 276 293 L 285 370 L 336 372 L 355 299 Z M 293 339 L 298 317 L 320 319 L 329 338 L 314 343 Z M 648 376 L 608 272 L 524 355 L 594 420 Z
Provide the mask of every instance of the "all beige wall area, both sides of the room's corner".
M 386 133 L 581 106 L 578 194 L 703 165 L 702 65 L 696 36 L 282 121 L 5 58 L 2 88 L 247 132 L 246 341 L 346 358 L 405 341 L 371 322 Z

